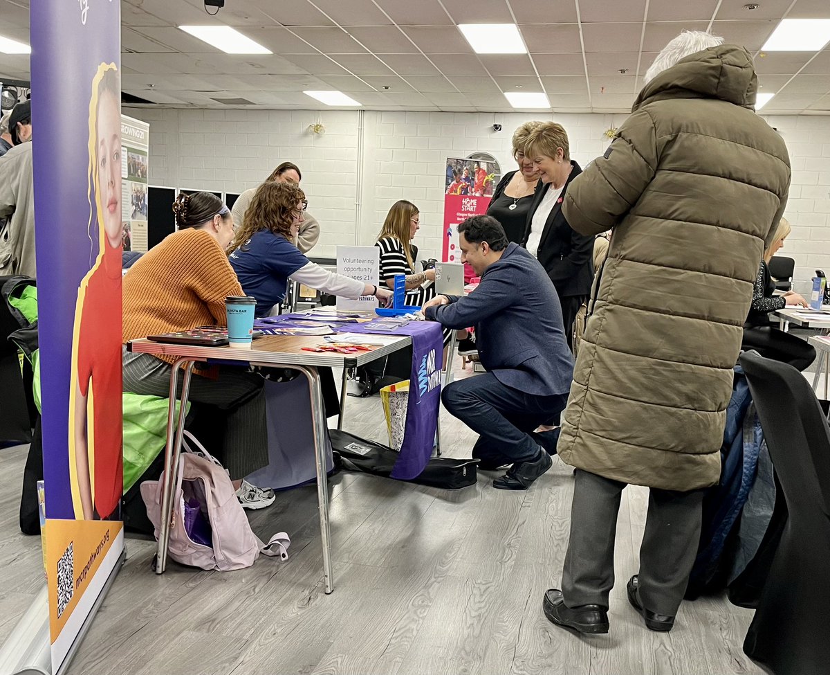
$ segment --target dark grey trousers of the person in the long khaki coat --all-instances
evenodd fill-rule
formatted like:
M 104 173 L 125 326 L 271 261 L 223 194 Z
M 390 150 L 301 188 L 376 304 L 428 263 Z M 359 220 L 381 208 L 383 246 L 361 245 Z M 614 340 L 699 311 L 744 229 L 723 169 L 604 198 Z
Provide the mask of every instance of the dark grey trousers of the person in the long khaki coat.
M 562 573 L 565 604 L 608 608 L 614 585 L 614 539 L 625 483 L 576 471 L 570 541 Z M 674 616 L 680 607 L 701 538 L 703 490 L 652 488 L 640 547 L 639 595 L 652 612 Z M 626 579 L 627 581 L 627 579 Z

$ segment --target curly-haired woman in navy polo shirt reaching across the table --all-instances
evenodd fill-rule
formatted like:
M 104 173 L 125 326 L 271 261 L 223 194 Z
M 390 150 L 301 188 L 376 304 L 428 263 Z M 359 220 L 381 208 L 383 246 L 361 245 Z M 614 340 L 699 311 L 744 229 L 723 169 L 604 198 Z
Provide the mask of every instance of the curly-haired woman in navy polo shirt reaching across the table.
M 383 305 L 392 291 L 329 272 L 300 253 L 294 242 L 303 222 L 305 193 L 293 183 L 263 183 L 228 250 L 242 290 L 256 298 L 256 316 L 266 316 L 286 297 L 288 279 L 344 298 L 374 295 Z

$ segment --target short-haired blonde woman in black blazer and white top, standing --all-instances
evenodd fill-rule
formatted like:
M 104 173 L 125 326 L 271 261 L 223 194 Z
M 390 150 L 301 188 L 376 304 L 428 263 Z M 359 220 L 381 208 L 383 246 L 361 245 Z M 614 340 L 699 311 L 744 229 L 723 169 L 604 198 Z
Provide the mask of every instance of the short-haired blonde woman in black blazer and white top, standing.
M 544 122 L 531 131 L 525 156 L 539 170 L 540 183 L 527 215 L 522 245 L 554 283 L 562 305 L 565 337 L 573 347 L 574 319 L 593 282 L 593 237 L 571 229 L 562 213 L 562 202 L 570 182 L 582 169 L 570 159 L 568 134 L 555 122 Z

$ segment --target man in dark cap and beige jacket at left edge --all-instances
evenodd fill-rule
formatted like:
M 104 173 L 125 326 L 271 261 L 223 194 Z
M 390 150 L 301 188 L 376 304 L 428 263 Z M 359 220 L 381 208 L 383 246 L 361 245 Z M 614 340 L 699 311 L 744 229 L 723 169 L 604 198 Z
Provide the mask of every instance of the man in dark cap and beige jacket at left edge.
M 0 275 L 34 277 L 35 195 L 32 143 L 27 142 L 32 140 L 31 101 L 14 106 L 8 122 L 14 147 L 0 157 Z

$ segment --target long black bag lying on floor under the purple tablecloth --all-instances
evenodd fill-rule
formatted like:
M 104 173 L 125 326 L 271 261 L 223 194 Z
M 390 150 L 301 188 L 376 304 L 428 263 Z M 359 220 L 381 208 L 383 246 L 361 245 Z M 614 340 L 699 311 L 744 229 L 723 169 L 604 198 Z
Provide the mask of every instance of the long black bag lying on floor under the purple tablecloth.
M 330 429 L 331 446 L 335 456 L 339 455 L 342 468 L 347 471 L 364 471 L 386 478 L 398 460 L 398 452 L 374 441 L 366 441 L 347 431 Z M 335 465 L 337 461 L 335 460 Z M 408 483 L 439 487 L 442 490 L 461 490 L 476 485 L 478 460 L 457 460 L 452 457 L 432 457 L 417 478 Z

